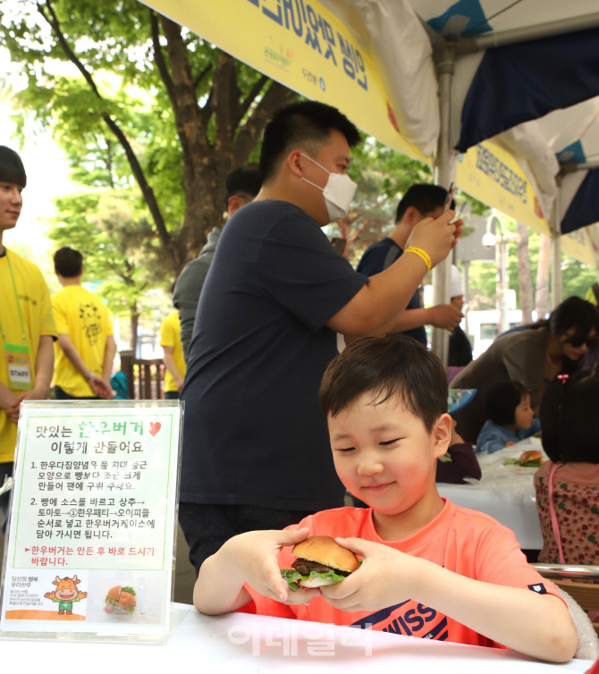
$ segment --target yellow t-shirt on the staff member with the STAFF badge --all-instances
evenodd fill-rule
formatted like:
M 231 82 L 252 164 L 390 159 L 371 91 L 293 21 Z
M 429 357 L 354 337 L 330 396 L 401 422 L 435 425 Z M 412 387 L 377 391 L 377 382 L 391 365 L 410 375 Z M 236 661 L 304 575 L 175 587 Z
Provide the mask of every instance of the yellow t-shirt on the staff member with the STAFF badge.
M 54 317 L 50 305 L 50 291 L 48 291 L 44 276 L 32 262 L 13 253 L 12 250 L 7 250 L 6 255 L 0 257 L 0 323 L 6 343 L 23 343 L 21 319 L 19 318 L 17 299 L 14 296 L 8 257 L 11 259 L 14 283 L 19 295 L 25 340 L 30 348 L 31 375 L 35 377 L 39 338 L 44 335 L 56 336 Z M 2 335 L 0 335 L 0 339 L 2 339 Z M 4 353 L 0 363 L 0 383 L 4 383 L 4 386 L 8 385 L 8 370 L 6 369 Z M 4 409 L 0 409 L 0 463 L 6 463 L 14 459 L 16 440 L 17 425 L 8 420 Z

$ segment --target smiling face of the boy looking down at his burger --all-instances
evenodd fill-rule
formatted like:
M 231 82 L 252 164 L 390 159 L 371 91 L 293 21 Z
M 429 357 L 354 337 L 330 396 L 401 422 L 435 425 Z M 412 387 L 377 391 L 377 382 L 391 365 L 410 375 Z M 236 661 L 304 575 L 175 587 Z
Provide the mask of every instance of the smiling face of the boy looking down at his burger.
M 451 417 L 429 433 L 422 419 L 392 397 L 372 405 L 363 394 L 336 417 L 328 417 L 337 475 L 350 493 L 376 512 L 396 515 L 436 496 L 436 459 L 447 451 Z

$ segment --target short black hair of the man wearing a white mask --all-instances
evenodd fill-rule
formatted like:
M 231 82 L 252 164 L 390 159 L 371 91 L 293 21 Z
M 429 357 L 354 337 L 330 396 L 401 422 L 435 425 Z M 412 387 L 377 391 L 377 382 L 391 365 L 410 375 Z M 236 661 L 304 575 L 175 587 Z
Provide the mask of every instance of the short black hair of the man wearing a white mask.
M 262 181 L 266 183 L 274 178 L 292 149 L 300 148 L 316 156 L 320 147 L 329 141 L 333 129 L 345 136 L 350 147 L 358 145 L 358 129 L 336 107 L 300 101 L 278 110 L 264 130 L 260 151 Z

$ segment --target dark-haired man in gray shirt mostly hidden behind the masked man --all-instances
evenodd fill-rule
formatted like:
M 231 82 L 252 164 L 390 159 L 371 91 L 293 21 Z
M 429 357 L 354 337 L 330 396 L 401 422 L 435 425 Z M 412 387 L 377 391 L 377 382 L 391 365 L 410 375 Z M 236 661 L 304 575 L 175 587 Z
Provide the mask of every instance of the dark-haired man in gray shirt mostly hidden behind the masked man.
M 238 211 L 241 206 L 249 204 L 260 191 L 262 180 L 257 164 L 246 164 L 229 173 L 225 183 L 225 206 L 227 219 Z M 198 310 L 199 294 L 206 281 L 208 269 L 215 257 L 216 244 L 223 231 L 222 227 L 215 227 L 208 233 L 207 244 L 199 251 L 198 257 L 183 267 L 173 291 L 173 305 L 179 310 L 181 323 L 181 343 L 183 356 L 187 363 L 190 350 L 193 324 Z

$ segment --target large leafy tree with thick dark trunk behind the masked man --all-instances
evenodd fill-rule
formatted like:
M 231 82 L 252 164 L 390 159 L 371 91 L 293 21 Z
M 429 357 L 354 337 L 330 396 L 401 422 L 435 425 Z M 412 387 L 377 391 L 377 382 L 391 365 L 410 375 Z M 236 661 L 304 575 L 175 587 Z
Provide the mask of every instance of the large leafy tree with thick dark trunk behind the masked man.
M 137 0 L 4 4 L 0 40 L 28 80 L 14 102 L 55 131 L 79 179 L 137 183 L 175 274 L 220 223 L 227 173 L 295 97 Z

